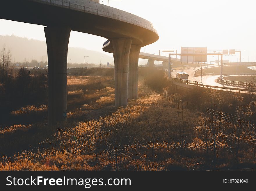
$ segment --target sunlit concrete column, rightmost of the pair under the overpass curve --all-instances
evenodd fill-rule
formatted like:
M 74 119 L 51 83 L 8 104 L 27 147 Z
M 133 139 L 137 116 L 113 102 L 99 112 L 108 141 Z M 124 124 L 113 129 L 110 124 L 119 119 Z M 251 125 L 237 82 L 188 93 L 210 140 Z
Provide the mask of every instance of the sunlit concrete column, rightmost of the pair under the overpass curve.
M 140 45 L 134 44 L 131 46 L 128 74 L 128 98 L 136 98 L 138 96 L 138 62 L 140 51 Z

